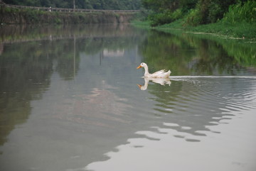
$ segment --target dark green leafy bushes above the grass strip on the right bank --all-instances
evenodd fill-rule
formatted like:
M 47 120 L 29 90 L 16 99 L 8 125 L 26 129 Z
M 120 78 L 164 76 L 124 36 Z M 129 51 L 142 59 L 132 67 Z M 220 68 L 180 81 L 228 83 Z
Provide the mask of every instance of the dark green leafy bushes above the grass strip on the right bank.
M 252 0 L 142 0 L 142 4 L 152 11 L 151 26 L 171 23 L 181 16 L 189 26 L 215 23 L 224 16 L 231 23 L 256 20 L 256 1 Z

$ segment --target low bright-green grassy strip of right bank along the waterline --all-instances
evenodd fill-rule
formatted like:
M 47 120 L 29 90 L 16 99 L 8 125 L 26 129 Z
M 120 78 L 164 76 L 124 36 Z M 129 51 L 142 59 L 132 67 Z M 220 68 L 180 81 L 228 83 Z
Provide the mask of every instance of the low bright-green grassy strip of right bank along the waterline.
M 174 31 L 185 31 L 186 33 L 213 35 L 215 37 L 229 39 L 247 39 L 256 41 L 256 23 L 210 23 L 200 26 L 186 26 L 182 19 L 162 26 L 151 27 L 149 21 L 132 21 L 132 25 L 173 33 Z

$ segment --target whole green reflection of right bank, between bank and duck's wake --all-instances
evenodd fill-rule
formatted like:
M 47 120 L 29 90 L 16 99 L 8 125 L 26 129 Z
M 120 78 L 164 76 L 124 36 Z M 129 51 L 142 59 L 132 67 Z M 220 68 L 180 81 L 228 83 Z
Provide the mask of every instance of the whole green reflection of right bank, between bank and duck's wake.
M 186 33 L 151 31 L 139 47 L 153 71 L 170 69 L 171 75 L 236 75 L 255 67 L 255 43 L 208 40 Z

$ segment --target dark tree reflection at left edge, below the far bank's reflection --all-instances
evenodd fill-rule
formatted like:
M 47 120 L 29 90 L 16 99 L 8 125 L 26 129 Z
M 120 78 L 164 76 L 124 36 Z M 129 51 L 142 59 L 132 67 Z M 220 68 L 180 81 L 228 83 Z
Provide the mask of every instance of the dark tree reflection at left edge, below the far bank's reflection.
M 41 99 L 49 87 L 53 61 L 61 77 L 74 77 L 79 64 L 78 59 L 74 60 L 78 56 L 74 48 L 73 40 L 4 46 L 0 56 L 1 144 L 17 123 L 26 121 L 31 112 L 30 101 Z

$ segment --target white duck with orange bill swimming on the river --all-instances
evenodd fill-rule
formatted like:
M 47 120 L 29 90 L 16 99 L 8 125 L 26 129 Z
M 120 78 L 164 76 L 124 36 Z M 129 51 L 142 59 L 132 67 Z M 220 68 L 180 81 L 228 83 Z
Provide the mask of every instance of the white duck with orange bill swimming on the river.
M 144 62 L 142 62 L 139 65 L 139 67 L 137 67 L 137 69 L 139 69 L 140 67 L 144 67 L 144 70 L 145 70 L 144 77 L 148 77 L 148 78 L 169 78 L 171 74 L 170 70 L 168 72 L 166 72 L 166 70 L 159 70 L 154 72 L 153 74 L 149 74 L 149 67 Z

